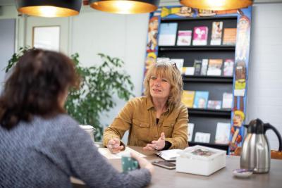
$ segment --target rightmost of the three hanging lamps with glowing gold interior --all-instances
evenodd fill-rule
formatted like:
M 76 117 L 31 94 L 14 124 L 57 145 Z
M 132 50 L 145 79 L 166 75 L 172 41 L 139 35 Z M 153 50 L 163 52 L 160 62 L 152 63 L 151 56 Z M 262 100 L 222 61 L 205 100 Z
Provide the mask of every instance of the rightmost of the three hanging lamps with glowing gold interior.
M 232 10 L 246 8 L 252 5 L 253 0 L 179 0 L 180 4 L 191 8 L 212 11 Z

